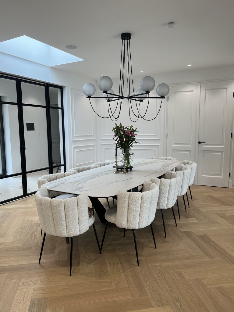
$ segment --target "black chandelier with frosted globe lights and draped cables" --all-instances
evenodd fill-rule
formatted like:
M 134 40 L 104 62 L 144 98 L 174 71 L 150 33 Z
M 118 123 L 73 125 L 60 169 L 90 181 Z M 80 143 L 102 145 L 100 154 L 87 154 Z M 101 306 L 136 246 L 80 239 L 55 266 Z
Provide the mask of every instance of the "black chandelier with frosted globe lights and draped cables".
M 119 118 L 121 107 L 122 107 L 122 100 L 128 100 L 128 110 L 129 110 L 129 118 L 131 121 L 136 122 L 139 118 L 144 120 L 153 120 L 157 117 L 160 112 L 162 106 L 162 100 L 165 99 L 165 96 L 169 93 L 169 86 L 165 83 L 161 83 L 156 88 L 156 93 L 159 96 L 151 97 L 150 91 L 152 91 L 155 87 L 155 80 L 151 76 L 145 76 L 141 79 L 140 86 L 141 88 L 138 89 L 135 93 L 134 91 L 134 83 L 133 83 L 133 75 L 132 75 L 132 65 L 131 65 L 131 48 L 130 48 L 130 39 L 131 34 L 129 32 L 124 32 L 121 34 L 122 39 L 122 49 L 121 49 L 121 64 L 120 64 L 120 79 L 119 79 L 119 92 L 115 94 L 114 91 L 111 89 L 113 82 L 110 77 L 108 76 L 101 76 L 98 79 L 98 88 L 103 91 L 103 96 L 93 96 L 96 92 L 96 88 L 92 83 L 86 83 L 83 86 L 83 92 L 89 99 L 90 105 L 96 115 L 98 113 L 95 112 L 93 105 L 90 99 L 105 99 L 107 100 L 107 111 L 108 117 L 103 117 L 98 115 L 102 118 L 111 118 L 113 121 L 117 121 Z M 127 41 L 127 42 L 126 42 Z M 126 42 L 126 43 L 125 43 Z M 126 59 L 127 55 L 127 59 Z M 123 96 L 124 92 L 124 76 L 125 76 L 125 67 L 127 65 L 127 96 Z M 130 88 L 132 87 L 133 95 L 130 94 Z M 145 112 L 140 113 L 140 105 L 143 100 L 148 99 L 148 104 L 146 107 Z M 161 99 L 161 104 L 158 113 L 152 119 L 146 119 L 145 115 L 149 107 L 150 99 Z M 110 105 L 110 102 L 117 101 L 116 106 L 113 108 Z M 133 105 L 136 105 L 135 112 L 133 110 Z M 133 120 L 131 117 L 131 113 L 135 116 L 136 120 Z M 134 118 L 134 117 L 133 117 Z

